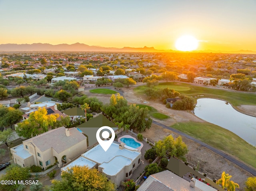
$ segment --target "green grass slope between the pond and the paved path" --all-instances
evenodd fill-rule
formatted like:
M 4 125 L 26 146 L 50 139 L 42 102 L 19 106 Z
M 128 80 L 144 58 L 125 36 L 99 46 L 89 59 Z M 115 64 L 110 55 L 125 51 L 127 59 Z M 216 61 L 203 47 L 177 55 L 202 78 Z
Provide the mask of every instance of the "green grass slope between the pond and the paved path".
M 256 168 L 256 148 L 236 134 L 210 123 L 179 123 L 172 128 L 222 150 Z

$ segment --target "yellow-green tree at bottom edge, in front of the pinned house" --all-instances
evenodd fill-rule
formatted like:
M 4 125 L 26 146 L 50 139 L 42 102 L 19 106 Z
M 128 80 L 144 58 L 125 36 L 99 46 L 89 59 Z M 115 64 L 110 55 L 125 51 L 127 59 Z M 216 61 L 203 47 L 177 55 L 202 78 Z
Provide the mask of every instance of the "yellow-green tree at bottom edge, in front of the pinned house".
M 61 180 L 52 180 L 51 191 L 90 190 L 90 191 L 114 191 L 114 184 L 97 169 L 89 169 L 87 166 L 73 166 L 63 171 Z

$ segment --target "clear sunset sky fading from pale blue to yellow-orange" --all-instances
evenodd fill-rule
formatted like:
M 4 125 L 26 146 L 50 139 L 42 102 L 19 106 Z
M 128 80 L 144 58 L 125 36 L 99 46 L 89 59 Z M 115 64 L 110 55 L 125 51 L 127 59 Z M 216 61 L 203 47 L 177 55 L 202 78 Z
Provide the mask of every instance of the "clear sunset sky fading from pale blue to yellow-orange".
M 256 51 L 256 0 L 0 0 L 0 44 Z

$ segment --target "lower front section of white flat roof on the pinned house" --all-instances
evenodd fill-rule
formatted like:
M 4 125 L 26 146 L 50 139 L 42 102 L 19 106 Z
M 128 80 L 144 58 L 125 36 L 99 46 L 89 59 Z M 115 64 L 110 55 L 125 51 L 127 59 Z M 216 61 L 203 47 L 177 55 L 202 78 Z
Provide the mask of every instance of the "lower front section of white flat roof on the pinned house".
M 123 156 L 116 156 L 109 162 L 104 162 L 99 167 L 102 167 L 102 172 L 104 172 L 107 175 L 116 175 L 118 172 L 120 172 L 124 166 L 130 165 L 132 161 L 128 158 L 125 158 Z

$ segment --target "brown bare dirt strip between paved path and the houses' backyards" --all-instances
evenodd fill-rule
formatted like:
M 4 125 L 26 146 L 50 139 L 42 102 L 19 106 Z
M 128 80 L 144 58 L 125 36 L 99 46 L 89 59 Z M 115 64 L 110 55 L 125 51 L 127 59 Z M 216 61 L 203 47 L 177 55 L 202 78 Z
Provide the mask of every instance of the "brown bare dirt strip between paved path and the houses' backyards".
M 157 142 L 158 140 L 162 140 L 164 136 L 172 135 L 174 138 L 177 138 L 179 134 L 172 132 L 171 130 L 164 129 L 156 124 L 152 124 L 149 130 L 146 132 L 142 132 L 143 136 L 148 138 L 150 142 Z M 212 152 L 211 150 L 197 144 L 196 142 L 183 137 L 182 140 L 188 146 L 188 154 L 186 155 L 187 161 L 191 167 L 197 165 L 198 160 L 200 161 L 200 173 L 207 173 L 207 176 L 210 179 L 219 179 L 221 177 L 222 171 L 229 173 L 232 175 L 232 179 L 234 182 L 240 185 L 240 189 L 243 190 L 244 182 L 250 176 L 250 173 L 245 171 L 244 169 L 238 167 L 234 163 L 228 161 L 222 156 Z

